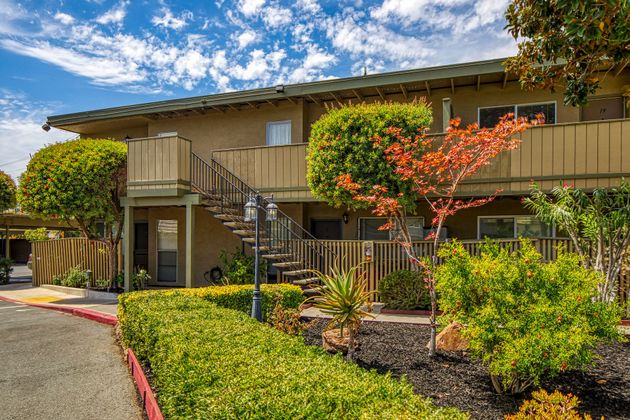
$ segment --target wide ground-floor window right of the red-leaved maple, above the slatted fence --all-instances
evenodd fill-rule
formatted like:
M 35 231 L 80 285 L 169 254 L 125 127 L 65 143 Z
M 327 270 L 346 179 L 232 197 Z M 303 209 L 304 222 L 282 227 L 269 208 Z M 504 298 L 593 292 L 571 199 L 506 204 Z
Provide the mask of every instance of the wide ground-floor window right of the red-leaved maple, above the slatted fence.
M 479 218 L 477 236 L 479 239 L 545 238 L 553 236 L 553 229 L 535 216 L 484 216 Z

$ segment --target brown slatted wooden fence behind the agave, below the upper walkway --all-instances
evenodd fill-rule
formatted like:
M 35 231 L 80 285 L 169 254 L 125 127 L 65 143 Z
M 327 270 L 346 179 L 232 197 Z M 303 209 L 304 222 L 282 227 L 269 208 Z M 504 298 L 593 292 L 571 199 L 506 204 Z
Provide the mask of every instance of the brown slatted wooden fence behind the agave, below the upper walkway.
M 479 255 L 480 245 L 484 243 L 479 240 L 461 242 L 471 255 Z M 520 248 L 518 239 L 501 239 L 496 242 L 502 248 L 512 251 Z M 532 239 L 532 242 L 545 261 L 556 259 L 558 245 L 565 246 L 568 251 L 574 250 L 570 239 L 537 238 Z M 418 241 L 414 242 L 413 246 L 418 256 L 429 256 L 433 242 Z M 315 267 L 324 274 L 330 274 L 332 267 L 347 270 L 363 263 L 361 270 L 367 276 L 370 292 L 377 292 L 379 281 L 389 273 L 411 268 L 411 262 L 402 246 L 393 241 L 295 241 L 292 248 L 298 259 L 304 261 L 306 266 Z M 281 278 L 281 281 L 287 280 Z M 378 294 L 375 293 L 374 296 L 378 301 Z M 619 300 L 627 302 L 629 299 L 630 270 L 624 268 L 619 279 Z

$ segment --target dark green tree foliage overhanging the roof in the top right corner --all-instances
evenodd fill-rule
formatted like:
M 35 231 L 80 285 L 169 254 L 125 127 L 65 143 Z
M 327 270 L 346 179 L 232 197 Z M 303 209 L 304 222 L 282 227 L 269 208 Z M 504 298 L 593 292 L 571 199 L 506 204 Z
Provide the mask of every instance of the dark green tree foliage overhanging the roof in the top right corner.
M 506 28 L 519 52 L 506 68 L 526 89 L 563 88 L 566 105 L 584 105 L 602 70 L 630 60 L 629 11 L 628 0 L 513 0 Z

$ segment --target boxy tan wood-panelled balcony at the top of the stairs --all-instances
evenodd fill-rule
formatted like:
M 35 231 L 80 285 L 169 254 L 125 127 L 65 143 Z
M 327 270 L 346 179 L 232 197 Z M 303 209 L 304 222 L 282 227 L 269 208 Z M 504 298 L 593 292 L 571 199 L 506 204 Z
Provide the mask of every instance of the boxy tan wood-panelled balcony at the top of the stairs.
M 180 136 L 128 140 L 127 195 L 173 196 L 190 191 L 190 140 Z

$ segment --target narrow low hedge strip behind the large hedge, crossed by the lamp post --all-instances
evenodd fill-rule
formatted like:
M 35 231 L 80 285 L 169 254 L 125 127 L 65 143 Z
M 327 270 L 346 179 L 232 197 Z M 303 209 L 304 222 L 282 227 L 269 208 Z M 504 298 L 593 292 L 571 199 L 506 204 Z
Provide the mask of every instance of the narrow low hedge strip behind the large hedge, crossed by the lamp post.
M 282 300 L 285 308 L 297 309 L 304 302 L 304 293 L 298 286 L 292 284 L 263 284 L 260 288 L 262 295 L 262 312 L 263 319 L 266 320 L 268 314 L 273 309 L 278 299 Z M 119 297 L 120 311 L 124 311 L 127 302 L 130 300 L 144 298 L 147 296 L 196 296 L 216 303 L 219 306 L 228 309 L 250 314 L 252 311 L 252 297 L 254 293 L 253 284 L 239 284 L 229 286 L 210 286 L 199 287 L 193 289 L 174 289 L 174 290 L 144 290 L 141 292 L 133 292 L 124 294 Z

